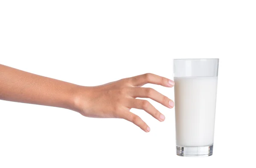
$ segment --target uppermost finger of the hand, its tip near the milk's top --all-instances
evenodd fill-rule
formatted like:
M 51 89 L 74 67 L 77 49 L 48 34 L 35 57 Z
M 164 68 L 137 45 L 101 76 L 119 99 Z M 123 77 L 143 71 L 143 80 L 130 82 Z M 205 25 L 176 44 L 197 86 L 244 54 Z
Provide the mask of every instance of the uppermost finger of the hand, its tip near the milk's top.
M 173 87 L 174 81 L 168 78 L 164 78 L 162 76 L 158 76 L 152 73 L 145 73 L 143 75 L 138 75 L 131 77 L 132 85 L 141 87 L 144 84 L 159 84 L 164 87 Z

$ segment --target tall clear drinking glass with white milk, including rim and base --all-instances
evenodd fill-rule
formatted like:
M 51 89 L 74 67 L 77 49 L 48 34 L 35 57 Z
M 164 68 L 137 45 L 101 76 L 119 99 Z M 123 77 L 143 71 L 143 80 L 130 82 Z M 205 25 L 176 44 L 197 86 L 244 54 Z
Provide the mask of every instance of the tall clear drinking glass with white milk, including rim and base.
M 175 59 L 176 154 L 211 156 L 219 59 Z

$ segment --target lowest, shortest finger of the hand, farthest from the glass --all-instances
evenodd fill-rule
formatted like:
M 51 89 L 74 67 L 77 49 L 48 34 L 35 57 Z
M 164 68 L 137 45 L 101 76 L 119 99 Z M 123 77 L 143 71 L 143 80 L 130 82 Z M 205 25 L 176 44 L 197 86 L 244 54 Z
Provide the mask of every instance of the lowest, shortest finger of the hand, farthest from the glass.
M 123 117 L 123 119 L 126 119 L 127 121 L 134 123 L 145 132 L 150 131 L 150 128 L 148 127 L 148 125 L 139 116 L 137 116 L 134 113 L 131 113 L 131 112 L 125 113 L 125 116 Z

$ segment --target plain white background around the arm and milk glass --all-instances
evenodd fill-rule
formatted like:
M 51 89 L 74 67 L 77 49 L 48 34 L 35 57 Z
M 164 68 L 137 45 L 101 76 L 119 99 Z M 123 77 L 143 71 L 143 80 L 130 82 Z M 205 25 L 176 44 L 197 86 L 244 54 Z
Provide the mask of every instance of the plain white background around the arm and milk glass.
M 213 155 L 175 155 L 175 110 L 152 102 L 145 133 L 122 119 L 0 101 L 0 167 L 126 168 L 255 165 L 254 0 L 0 1 L 0 64 L 94 86 L 173 58 L 220 58 Z M 174 98 L 173 88 L 148 85 Z

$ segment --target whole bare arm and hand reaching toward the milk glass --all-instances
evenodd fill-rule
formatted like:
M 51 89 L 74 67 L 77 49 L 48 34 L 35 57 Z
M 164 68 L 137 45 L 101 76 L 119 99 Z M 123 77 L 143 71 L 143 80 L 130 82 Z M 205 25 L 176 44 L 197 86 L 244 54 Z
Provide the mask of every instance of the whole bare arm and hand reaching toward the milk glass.
M 165 116 L 147 100 L 138 98 L 151 98 L 168 108 L 174 107 L 174 102 L 168 97 L 152 88 L 142 87 L 148 83 L 174 86 L 174 81 L 168 78 L 146 73 L 85 87 L 0 64 L 1 100 L 61 107 L 86 117 L 125 119 L 145 132 L 149 132 L 150 128 L 139 116 L 130 112 L 131 108 L 145 110 L 160 122 L 165 120 Z

